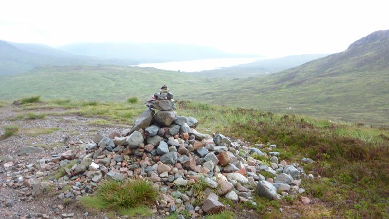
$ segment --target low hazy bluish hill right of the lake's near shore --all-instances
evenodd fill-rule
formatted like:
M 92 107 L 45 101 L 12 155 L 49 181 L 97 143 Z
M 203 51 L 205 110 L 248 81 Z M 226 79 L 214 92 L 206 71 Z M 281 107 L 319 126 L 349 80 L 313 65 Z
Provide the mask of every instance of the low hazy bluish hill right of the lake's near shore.
M 233 77 L 243 78 L 258 75 L 266 75 L 276 73 L 285 69 L 299 66 L 314 59 L 322 58 L 328 54 L 303 54 L 291 55 L 282 58 L 262 59 L 242 65 L 225 67 L 215 70 L 207 70 L 201 72 L 190 73 L 192 75 L 206 76 L 206 77 Z

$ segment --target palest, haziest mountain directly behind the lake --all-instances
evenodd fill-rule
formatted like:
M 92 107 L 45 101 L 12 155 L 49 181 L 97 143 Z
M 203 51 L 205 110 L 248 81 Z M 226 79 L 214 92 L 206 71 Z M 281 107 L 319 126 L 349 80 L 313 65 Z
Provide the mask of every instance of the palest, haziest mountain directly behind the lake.
M 59 47 L 79 55 L 127 59 L 138 63 L 185 61 L 207 58 L 258 57 L 230 54 L 213 47 L 178 43 L 74 43 Z

